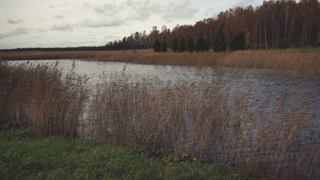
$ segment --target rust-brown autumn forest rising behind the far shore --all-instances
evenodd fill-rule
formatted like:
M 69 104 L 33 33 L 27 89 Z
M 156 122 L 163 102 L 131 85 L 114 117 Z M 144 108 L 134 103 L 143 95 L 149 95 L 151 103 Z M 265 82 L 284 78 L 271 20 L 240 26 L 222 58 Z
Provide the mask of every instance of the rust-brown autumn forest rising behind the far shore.
M 239 32 L 245 49 L 299 48 L 320 45 L 320 3 L 317 0 L 268 0 L 260 6 L 234 7 L 220 12 L 215 17 L 204 18 L 195 24 L 177 24 L 171 30 L 162 25 L 153 26 L 149 33 L 133 32 L 129 36 L 107 42 L 104 46 L 65 48 L 17 48 L 1 51 L 68 51 L 68 50 L 126 50 L 153 48 L 156 39 L 171 48 L 176 37 L 191 39 L 196 44 L 203 38 L 205 49 L 211 49 L 219 28 L 223 30 L 225 49 L 232 45 L 232 38 Z

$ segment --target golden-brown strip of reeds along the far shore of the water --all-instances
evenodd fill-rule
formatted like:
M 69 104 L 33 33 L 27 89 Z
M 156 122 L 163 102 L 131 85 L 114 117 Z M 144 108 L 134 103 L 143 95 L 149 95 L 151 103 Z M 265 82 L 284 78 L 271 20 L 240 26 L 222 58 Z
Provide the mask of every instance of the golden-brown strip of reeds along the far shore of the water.
M 0 59 L 87 59 L 163 65 L 196 65 L 275 69 L 320 79 L 320 51 L 311 49 L 247 50 L 213 53 L 154 53 L 152 49 L 124 51 L 2 52 Z

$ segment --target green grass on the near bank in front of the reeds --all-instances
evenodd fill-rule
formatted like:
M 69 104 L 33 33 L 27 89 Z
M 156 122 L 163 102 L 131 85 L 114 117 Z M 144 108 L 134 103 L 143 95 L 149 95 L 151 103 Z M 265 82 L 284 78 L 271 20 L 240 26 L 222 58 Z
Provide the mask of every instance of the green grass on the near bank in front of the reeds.
M 137 148 L 63 137 L 32 129 L 0 132 L 0 179 L 244 179 L 218 163 L 150 157 Z

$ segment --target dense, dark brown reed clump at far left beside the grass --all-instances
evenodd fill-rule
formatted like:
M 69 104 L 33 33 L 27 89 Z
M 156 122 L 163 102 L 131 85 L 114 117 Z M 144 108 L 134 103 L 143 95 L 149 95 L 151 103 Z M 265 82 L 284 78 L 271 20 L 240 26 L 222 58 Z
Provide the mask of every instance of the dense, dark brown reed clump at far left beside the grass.
M 34 127 L 45 135 L 77 135 L 88 90 L 56 64 L 0 62 L 0 127 Z

